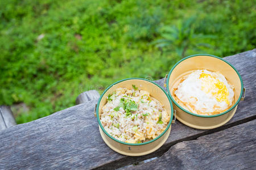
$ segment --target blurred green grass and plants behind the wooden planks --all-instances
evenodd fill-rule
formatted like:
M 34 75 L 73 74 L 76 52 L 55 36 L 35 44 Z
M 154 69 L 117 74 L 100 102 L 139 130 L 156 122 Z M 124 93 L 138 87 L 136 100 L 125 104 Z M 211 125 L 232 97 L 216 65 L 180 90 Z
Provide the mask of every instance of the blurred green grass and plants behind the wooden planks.
M 254 1 L 0 1 L 0 105 L 24 123 L 129 77 L 163 78 L 182 57 L 255 48 Z

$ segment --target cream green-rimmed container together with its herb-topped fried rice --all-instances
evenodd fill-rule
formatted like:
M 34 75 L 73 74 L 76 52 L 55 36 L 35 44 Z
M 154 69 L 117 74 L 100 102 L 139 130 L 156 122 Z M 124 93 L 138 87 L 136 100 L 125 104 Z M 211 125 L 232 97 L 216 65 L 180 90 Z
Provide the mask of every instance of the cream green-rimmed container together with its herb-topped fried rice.
M 106 145 L 123 155 L 141 156 L 166 142 L 173 109 L 170 96 L 158 84 L 129 78 L 106 88 L 96 115 Z

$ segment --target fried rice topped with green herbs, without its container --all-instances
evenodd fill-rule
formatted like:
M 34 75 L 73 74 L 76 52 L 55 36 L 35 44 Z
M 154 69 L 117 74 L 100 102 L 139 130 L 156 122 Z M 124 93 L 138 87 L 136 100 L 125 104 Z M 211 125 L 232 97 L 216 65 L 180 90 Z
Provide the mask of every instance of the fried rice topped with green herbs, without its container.
M 117 88 L 108 96 L 101 112 L 101 124 L 115 139 L 143 143 L 158 137 L 167 127 L 170 116 L 149 92 Z

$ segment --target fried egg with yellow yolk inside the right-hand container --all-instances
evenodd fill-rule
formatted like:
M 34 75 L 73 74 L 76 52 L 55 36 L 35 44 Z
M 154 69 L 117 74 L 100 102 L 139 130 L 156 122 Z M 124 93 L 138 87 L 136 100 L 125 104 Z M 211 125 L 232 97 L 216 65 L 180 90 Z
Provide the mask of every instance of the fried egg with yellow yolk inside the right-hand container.
M 233 89 L 221 73 L 195 70 L 180 80 L 173 96 L 178 104 L 192 113 L 212 115 L 231 107 Z

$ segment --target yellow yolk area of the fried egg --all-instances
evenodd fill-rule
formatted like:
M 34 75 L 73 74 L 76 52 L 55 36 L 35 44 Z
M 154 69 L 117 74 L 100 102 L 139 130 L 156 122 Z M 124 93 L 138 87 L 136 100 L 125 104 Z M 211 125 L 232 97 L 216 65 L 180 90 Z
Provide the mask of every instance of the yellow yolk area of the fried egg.
M 220 80 L 214 78 L 212 75 L 205 73 L 201 73 L 199 78 L 203 80 L 201 90 L 207 94 L 212 92 L 212 95 L 217 101 L 225 101 L 226 104 L 229 105 L 229 91 L 223 82 L 220 82 Z

